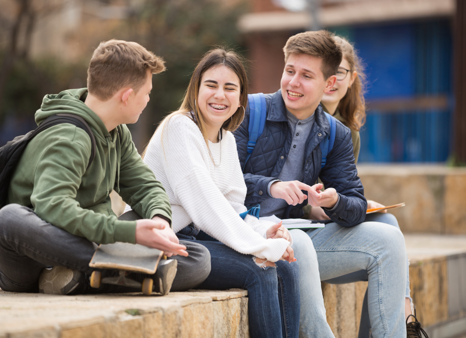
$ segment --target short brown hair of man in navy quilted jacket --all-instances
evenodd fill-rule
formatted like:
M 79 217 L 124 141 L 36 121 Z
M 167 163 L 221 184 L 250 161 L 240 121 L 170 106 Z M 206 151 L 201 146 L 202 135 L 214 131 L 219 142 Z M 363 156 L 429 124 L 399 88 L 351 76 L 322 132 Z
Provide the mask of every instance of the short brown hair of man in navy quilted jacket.
M 286 41 L 283 51 L 285 63 L 290 54 L 308 54 L 322 59 L 321 71 L 325 79 L 337 73 L 342 58 L 333 34 L 324 29 L 293 35 Z

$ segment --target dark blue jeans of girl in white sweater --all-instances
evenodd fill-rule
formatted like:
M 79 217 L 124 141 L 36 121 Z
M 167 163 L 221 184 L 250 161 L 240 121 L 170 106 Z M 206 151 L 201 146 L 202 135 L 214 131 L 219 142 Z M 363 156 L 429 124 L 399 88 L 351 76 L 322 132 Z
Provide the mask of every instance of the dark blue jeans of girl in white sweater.
M 254 337 L 298 337 L 299 267 L 296 262 L 276 262 L 276 268 L 260 268 L 253 256 L 186 227 L 177 233 L 184 241 L 202 243 L 210 252 L 210 274 L 197 289 L 248 290 L 249 332 Z M 197 239 L 197 237 L 203 240 Z

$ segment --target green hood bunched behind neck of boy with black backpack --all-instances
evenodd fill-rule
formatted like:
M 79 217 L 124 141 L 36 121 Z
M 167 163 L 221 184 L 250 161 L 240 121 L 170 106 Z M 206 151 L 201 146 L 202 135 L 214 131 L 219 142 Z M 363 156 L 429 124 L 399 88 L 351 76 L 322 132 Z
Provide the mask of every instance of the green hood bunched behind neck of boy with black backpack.
M 87 94 L 87 88 L 80 88 L 69 89 L 59 94 L 46 95 L 42 100 L 40 109 L 34 115 L 37 125 L 40 125 L 49 116 L 55 114 L 75 114 L 89 124 L 96 138 L 106 142 L 105 138 L 110 137 L 114 141 L 115 134 L 111 135 L 100 117 L 84 103 Z

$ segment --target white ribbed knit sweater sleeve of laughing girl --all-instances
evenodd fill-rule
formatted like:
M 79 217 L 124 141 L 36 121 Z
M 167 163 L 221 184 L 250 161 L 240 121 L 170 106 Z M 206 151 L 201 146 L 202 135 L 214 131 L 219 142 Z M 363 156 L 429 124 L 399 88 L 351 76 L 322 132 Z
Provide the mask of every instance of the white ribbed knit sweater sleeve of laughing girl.
M 148 146 L 144 161 L 155 176 L 163 171 L 170 186 L 167 189 L 173 191 L 194 224 L 240 253 L 278 261 L 289 242 L 266 240 L 239 217 L 211 177 L 207 145 L 196 124 L 188 117 L 174 116 L 160 129 L 163 134 L 156 133 L 152 138 L 155 144 Z M 163 153 L 157 161 L 155 151 L 160 148 Z M 224 152 L 226 155 L 231 156 Z

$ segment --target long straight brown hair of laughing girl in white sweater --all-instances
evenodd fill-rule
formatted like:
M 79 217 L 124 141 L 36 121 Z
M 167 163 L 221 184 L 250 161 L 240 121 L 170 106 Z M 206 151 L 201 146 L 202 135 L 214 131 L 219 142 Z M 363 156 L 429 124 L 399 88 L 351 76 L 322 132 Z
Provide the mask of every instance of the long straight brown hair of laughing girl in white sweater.
M 194 114 L 193 121 L 201 130 L 202 136 L 204 137 L 204 141 L 206 142 L 208 147 L 206 122 L 204 121 L 202 114 L 199 111 L 199 106 L 196 100 L 199 94 L 199 86 L 201 85 L 201 79 L 204 73 L 212 67 L 223 65 L 232 70 L 236 74 L 236 76 L 238 76 L 239 79 L 239 101 L 242 107 L 240 106 L 238 109 L 236 109 L 236 111 L 232 115 L 232 118 L 225 121 L 222 125 L 222 128 L 227 131 L 234 131 L 243 121 L 245 113 L 244 107 L 246 107 L 248 103 L 248 76 L 244 67 L 244 61 L 245 59 L 232 49 L 220 47 L 209 50 L 206 54 L 204 54 L 199 63 L 196 65 L 196 68 L 194 69 L 194 72 L 189 81 L 186 94 L 184 95 L 183 101 L 181 102 L 180 108 L 177 111 L 165 117 L 165 119 L 163 119 L 163 121 L 157 127 L 157 130 L 158 128 L 164 128 L 165 125 L 167 125 L 166 122 L 168 122 L 168 120 L 170 120 L 175 115 L 185 115 L 191 117 L 192 113 Z M 144 154 L 146 153 L 146 150 L 147 147 L 146 149 L 144 149 L 144 152 L 142 154 L 143 158 Z

